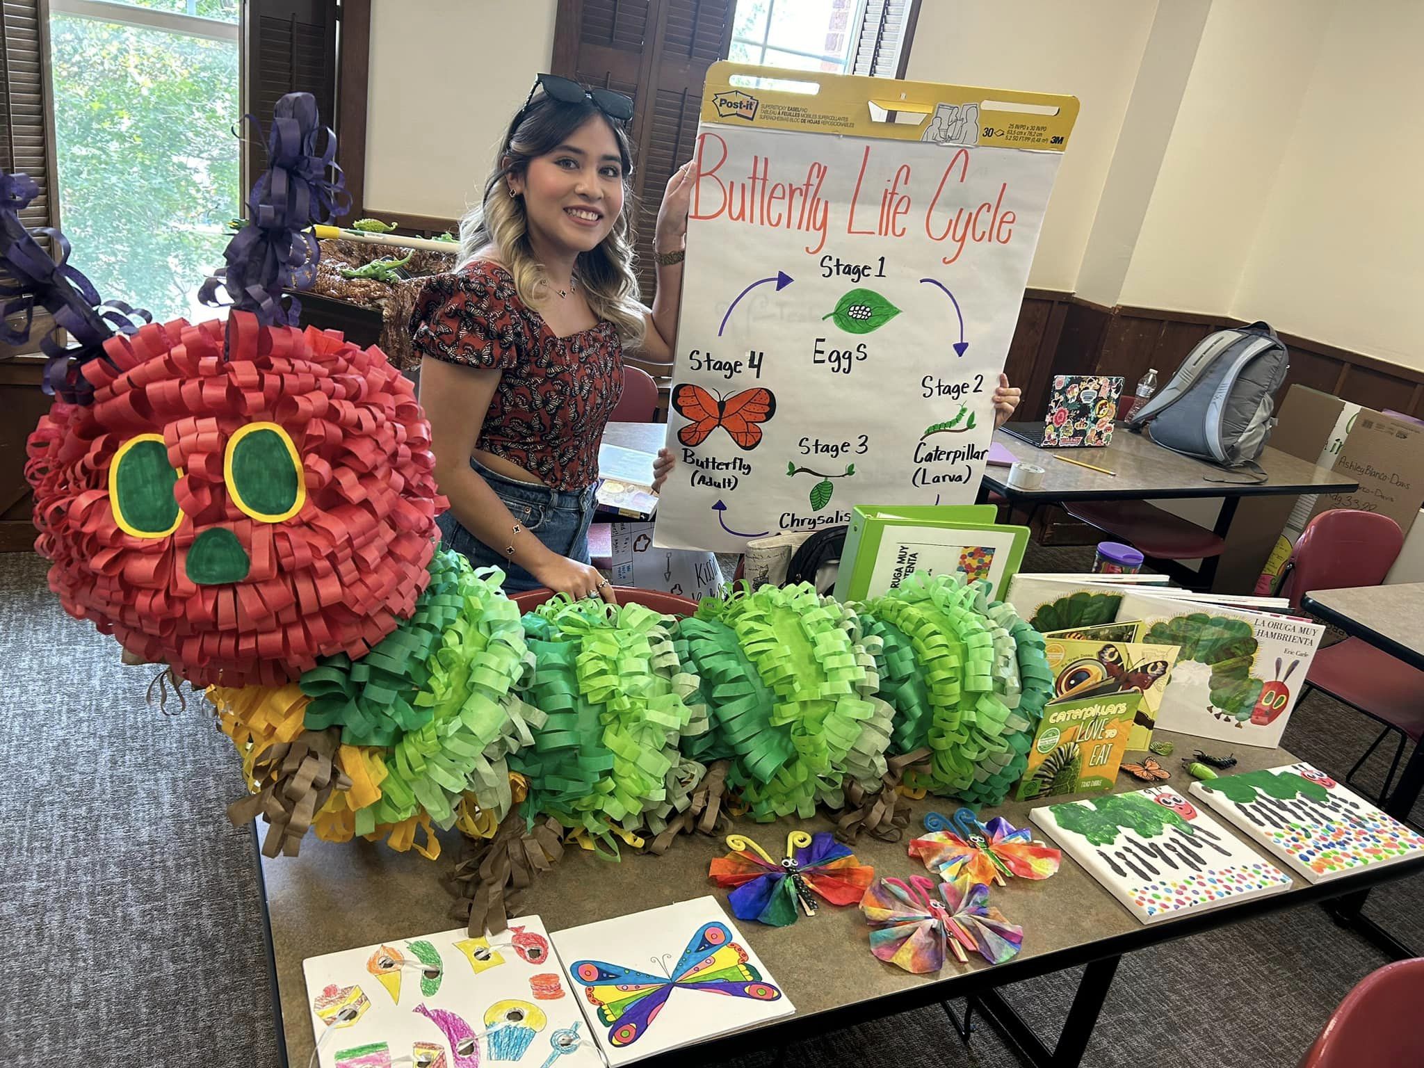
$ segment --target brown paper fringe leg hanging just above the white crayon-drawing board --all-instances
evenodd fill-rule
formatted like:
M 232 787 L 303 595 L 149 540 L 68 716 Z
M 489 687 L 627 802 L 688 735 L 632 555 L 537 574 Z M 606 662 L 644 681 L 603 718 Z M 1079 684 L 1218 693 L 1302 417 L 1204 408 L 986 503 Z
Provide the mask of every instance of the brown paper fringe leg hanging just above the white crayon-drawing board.
M 550 816 L 528 830 L 524 816 L 511 812 L 491 839 L 476 843 L 470 856 L 454 866 L 449 881 L 457 900 L 450 916 L 468 920 L 471 938 L 486 931 L 498 934 L 508 927 L 510 913 L 518 913 L 518 891 L 562 856 L 564 827 L 558 820 Z

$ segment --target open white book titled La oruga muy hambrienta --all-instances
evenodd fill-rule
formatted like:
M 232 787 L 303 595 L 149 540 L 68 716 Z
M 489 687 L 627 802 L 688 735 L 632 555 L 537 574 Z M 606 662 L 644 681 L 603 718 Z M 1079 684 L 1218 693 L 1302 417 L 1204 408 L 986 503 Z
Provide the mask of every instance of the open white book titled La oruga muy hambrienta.
M 1015 575 L 1007 600 L 1045 634 L 1139 621 L 1138 641 L 1180 648 L 1156 725 L 1233 745 L 1280 745 L 1324 634 L 1310 619 L 1051 575 Z

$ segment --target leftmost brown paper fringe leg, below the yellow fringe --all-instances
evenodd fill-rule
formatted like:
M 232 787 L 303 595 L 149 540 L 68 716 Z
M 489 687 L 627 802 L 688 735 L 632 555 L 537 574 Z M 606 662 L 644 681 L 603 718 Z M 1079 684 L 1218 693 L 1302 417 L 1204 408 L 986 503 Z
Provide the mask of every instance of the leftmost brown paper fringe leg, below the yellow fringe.
M 271 826 L 262 856 L 295 857 L 302 836 L 332 790 L 350 789 L 352 780 L 336 763 L 340 728 L 303 731 L 290 742 L 273 742 L 252 762 L 252 779 L 262 790 L 228 806 L 228 819 L 242 826 L 258 815 Z

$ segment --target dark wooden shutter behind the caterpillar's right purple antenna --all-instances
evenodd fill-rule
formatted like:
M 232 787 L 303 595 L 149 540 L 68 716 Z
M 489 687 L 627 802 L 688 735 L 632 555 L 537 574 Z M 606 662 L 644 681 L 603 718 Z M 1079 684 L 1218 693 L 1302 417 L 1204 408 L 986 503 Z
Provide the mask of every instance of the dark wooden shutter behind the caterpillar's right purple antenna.
M 336 0 L 248 0 L 242 57 L 242 111 L 266 131 L 288 93 L 316 97 L 322 122 L 336 127 Z M 242 131 L 242 189 L 266 169 L 266 144 Z

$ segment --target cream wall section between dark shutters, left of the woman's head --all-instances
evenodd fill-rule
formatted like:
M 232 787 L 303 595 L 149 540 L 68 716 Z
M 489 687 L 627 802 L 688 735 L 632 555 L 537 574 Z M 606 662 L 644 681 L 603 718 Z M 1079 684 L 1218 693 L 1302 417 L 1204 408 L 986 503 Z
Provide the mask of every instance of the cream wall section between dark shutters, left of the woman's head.
M 557 0 L 372 0 L 366 214 L 459 218 L 534 75 Z

